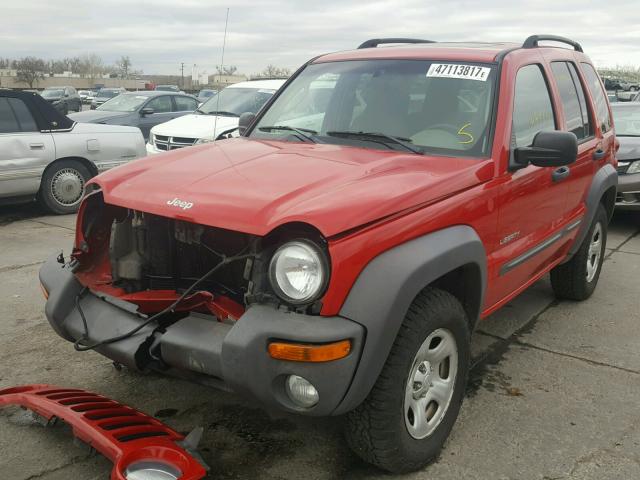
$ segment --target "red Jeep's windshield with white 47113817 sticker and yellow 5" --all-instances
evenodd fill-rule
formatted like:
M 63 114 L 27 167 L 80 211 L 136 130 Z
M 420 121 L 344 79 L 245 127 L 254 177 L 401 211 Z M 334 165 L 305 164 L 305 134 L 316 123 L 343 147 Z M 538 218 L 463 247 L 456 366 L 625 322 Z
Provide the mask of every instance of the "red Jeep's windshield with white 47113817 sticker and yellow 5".
M 291 130 L 268 128 L 287 126 L 321 143 L 484 156 L 495 76 L 494 65 L 460 62 L 310 65 L 265 112 L 251 136 L 299 141 Z

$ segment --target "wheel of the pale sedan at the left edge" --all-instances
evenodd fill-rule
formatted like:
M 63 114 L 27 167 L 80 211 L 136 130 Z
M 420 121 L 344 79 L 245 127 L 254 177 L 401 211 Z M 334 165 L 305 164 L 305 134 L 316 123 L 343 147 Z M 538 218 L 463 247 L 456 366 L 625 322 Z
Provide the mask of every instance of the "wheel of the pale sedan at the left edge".
M 58 215 L 74 213 L 84 196 L 91 172 L 78 160 L 59 160 L 45 170 L 40 182 L 38 201 Z

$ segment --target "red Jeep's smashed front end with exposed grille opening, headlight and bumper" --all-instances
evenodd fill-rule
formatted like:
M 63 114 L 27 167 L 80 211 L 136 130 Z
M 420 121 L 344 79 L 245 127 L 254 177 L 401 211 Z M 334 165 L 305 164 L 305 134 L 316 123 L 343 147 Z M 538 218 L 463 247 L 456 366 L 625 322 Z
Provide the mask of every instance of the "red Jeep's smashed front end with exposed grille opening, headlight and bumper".
M 280 260 L 287 245 L 322 264 L 315 293 L 289 298 L 290 285 L 274 288 L 281 271 L 297 268 Z M 283 266 L 274 273 L 276 258 Z M 40 280 L 49 322 L 77 350 L 295 411 L 302 404 L 286 383 L 304 376 L 321 391 L 304 409 L 326 415 L 348 388 L 364 337 L 355 322 L 319 317 L 329 264 L 326 242 L 308 225 L 259 237 L 111 205 L 96 190 L 80 208 L 70 261 L 45 263 Z M 304 357 L 314 345 L 337 353 Z M 291 352 L 303 356 L 292 361 Z

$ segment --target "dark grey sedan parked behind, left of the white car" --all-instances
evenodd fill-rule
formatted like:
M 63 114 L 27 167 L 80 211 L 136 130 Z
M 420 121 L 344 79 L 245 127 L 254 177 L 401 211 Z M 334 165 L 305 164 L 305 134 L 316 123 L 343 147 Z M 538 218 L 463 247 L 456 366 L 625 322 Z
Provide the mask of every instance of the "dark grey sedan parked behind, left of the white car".
M 123 93 L 106 101 L 95 110 L 73 113 L 76 122 L 129 125 L 142 131 L 145 141 L 155 125 L 192 113 L 198 101 L 190 95 L 168 92 Z

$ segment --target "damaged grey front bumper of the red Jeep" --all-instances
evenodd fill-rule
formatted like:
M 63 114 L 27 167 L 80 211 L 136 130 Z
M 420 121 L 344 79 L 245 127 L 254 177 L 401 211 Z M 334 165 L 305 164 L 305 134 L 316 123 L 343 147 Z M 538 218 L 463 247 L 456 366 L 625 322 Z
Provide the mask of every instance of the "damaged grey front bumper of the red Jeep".
M 55 258 L 40 270 L 40 282 L 49 298 L 45 312 L 52 328 L 69 341 L 85 334 L 76 297 L 83 286 L 67 265 Z M 134 304 L 88 292 L 79 299 L 87 321 L 88 339 L 112 338 L 143 322 Z M 346 395 L 358 366 L 364 328 L 342 317 L 317 317 L 255 305 L 233 324 L 216 322 L 197 313 L 179 320 L 163 333 L 148 325 L 125 340 L 103 345 L 96 351 L 136 370 L 159 370 L 188 378 L 210 380 L 221 388 L 252 397 L 266 406 L 315 416 L 331 415 Z M 349 339 L 350 353 L 323 363 L 283 361 L 272 358 L 273 340 L 323 344 Z M 151 354 L 150 354 L 151 352 Z M 296 406 L 285 393 L 289 375 L 311 382 L 319 402 L 310 409 Z

